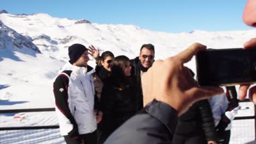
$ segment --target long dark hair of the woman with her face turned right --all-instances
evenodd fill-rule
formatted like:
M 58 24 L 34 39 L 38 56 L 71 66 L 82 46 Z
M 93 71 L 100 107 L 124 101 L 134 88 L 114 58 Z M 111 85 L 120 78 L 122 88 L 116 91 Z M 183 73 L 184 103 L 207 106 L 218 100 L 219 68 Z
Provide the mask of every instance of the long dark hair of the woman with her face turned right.
M 126 76 L 124 74 L 124 67 L 127 61 L 130 61 L 130 59 L 126 56 L 117 56 L 114 59 L 113 66 L 112 66 L 112 78 L 113 82 L 116 85 L 119 85 L 121 83 L 126 83 Z

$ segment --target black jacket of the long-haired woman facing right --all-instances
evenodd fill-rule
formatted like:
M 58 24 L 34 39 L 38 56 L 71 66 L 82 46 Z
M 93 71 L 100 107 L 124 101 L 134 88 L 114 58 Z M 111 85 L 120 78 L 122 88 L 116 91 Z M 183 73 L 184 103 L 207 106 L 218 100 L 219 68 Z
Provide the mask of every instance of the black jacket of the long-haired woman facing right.
M 103 112 L 102 121 L 98 129 L 103 133 L 100 141 L 104 141 L 115 129 L 127 119 L 135 115 L 136 97 L 140 94 L 132 78 L 128 79 L 129 84 L 115 83 L 112 77 L 104 83 L 101 93 L 101 109 Z M 102 140 L 103 139 L 103 140 Z

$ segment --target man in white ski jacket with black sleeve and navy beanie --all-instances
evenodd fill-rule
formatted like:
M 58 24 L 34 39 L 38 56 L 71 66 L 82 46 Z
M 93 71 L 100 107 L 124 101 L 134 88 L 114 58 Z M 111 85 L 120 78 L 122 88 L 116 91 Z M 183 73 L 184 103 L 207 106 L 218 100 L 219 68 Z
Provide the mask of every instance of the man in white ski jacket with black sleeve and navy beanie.
M 87 65 L 88 49 L 81 44 L 68 47 L 70 61 L 54 82 L 55 109 L 60 133 L 67 143 L 96 143 L 94 70 Z

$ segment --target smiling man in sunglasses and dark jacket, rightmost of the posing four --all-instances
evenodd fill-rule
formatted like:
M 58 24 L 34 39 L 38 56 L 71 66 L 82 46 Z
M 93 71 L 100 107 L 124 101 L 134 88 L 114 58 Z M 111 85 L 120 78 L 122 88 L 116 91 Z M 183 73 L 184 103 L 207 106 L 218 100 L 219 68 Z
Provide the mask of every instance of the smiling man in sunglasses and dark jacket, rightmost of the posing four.
M 141 75 L 148 70 L 153 64 L 155 57 L 155 47 L 152 44 L 143 44 L 141 50 L 139 51 L 139 56 L 131 59 L 131 75 L 135 77 L 137 87 L 141 93 L 140 97 L 137 98 L 138 106 L 137 109 L 140 110 L 143 107 L 143 94 L 141 88 Z

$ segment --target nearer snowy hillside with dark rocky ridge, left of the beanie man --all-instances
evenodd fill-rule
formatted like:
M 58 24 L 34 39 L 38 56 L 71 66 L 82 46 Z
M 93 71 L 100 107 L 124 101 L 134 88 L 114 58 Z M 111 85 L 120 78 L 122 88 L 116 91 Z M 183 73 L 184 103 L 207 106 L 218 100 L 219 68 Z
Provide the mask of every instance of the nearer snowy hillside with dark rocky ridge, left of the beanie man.
M 0 39 L 0 99 L 18 100 L 20 102 L 17 105 L 22 105 L 38 101 L 45 94 L 50 95 L 51 79 L 56 75 L 51 70 L 56 70 L 56 65 L 61 65 L 63 62 L 52 57 L 45 57 L 28 35 L 25 37 L 17 33 L 1 21 Z M 43 100 L 46 104 L 34 106 L 52 106 L 50 97 Z M 5 104 L 8 102 L 6 101 Z M 19 108 L 17 105 L 15 107 Z M 26 106 L 30 107 L 30 104 Z M 6 106 L 2 104 L 0 107 Z

